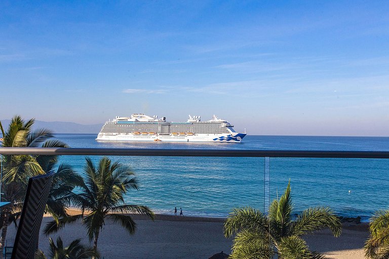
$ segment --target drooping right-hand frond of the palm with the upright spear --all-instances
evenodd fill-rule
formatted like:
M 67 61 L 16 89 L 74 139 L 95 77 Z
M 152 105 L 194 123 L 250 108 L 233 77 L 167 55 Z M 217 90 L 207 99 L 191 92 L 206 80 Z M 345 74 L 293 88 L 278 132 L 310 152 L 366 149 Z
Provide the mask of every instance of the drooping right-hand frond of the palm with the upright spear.
M 327 227 L 335 237 L 342 232 L 342 224 L 333 210 L 328 207 L 308 208 L 292 223 L 289 235 L 301 236 Z

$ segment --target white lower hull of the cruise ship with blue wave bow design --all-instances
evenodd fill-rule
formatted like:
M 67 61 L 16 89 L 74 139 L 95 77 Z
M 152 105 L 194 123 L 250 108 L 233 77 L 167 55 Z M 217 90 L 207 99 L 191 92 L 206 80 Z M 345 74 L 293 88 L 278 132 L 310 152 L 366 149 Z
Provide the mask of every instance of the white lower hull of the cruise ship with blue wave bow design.
M 239 143 L 246 136 L 245 133 L 229 134 L 195 134 L 195 135 L 134 135 L 131 133 L 99 133 L 98 141 L 163 141 L 163 142 L 229 142 Z

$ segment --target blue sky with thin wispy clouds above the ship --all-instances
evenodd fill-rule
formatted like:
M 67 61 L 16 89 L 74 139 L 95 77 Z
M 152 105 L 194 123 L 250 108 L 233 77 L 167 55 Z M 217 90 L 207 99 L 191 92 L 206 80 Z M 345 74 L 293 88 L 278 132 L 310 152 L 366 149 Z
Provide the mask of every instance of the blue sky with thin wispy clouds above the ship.
M 388 1 L 1 1 L 0 119 L 389 136 Z

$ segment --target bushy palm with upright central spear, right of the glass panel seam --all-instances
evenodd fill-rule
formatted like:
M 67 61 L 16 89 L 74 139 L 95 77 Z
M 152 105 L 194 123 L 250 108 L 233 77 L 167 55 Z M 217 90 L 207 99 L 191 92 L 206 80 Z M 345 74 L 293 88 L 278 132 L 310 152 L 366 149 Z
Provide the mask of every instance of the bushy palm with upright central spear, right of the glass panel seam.
M 271 203 L 268 215 L 251 207 L 235 208 L 229 213 L 224 235 L 236 233 L 230 258 L 325 258 L 310 251 L 301 236 L 328 227 L 338 237 L 339 219 L 327 207 L 308 208 L 293 219 L 290 191 L 289 181 L 281 198 Z

